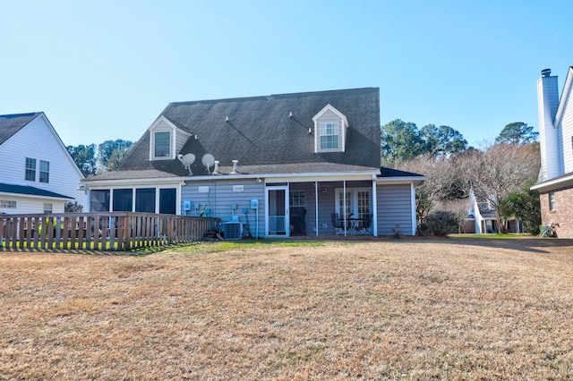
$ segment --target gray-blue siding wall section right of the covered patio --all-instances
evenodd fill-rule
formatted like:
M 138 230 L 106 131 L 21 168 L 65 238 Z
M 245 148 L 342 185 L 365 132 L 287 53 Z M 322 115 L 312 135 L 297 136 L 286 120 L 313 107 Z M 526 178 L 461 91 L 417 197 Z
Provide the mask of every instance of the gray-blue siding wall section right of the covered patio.
M 392 229 L 412 235 L 412 199 L 410 184 L 377 187 L 378 235 L 392 235 Z

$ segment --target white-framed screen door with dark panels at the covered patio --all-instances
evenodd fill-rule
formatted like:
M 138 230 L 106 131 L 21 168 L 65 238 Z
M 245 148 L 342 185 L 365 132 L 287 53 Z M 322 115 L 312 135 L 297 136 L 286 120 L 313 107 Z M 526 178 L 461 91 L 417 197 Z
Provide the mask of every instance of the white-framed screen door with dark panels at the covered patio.
M 267 235 L 290 236 L 288 218 L 288 187 L 267 188 Z

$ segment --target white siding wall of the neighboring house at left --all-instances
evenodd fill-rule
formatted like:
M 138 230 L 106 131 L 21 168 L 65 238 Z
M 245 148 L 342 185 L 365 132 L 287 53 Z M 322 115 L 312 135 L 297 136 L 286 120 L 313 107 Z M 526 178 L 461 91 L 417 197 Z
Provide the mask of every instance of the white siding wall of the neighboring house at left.
M 36 181 L 25 180 L 26 157 L 36 159 Z M 39 161 L 49 162 L 49 182 L 39 182 Z M 0 146 L 0 182 L 32 186 L 72 197 L 87 210 L 87 196 L 78 190 L 81 174 L 65 151 L 55 132 L 47 125 L 42 115 L 16 132 Z M 56 205 L 60 201 L 50 201 Z M 35 209 L 30 213 L 43 212 Z M 56 213 L 56 210 L 54 210 Z M 28 213 L 20 210 L 13 213 Z

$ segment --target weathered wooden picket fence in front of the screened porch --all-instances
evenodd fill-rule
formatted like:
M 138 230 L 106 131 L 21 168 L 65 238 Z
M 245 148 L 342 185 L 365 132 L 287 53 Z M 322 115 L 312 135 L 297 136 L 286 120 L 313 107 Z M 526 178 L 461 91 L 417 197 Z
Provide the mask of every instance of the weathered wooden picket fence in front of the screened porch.
M 133 250 L 201 241 L 217 218 L 149 213 L 0 215 L 0 250 Z

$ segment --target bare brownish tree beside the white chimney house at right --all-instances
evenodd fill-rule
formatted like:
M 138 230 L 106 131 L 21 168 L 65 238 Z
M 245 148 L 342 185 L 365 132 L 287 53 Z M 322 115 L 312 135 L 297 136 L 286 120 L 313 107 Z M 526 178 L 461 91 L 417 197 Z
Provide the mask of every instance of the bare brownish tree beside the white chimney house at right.
M 539 173 L 539 145 L 501 143 L 483 151 L 466 151 L 456 158 L 456 167 L 463 176 L 465 192 L 473 190 L 476 198 L 492 205 L 500 231 L 504 232 L 501 202 Z

